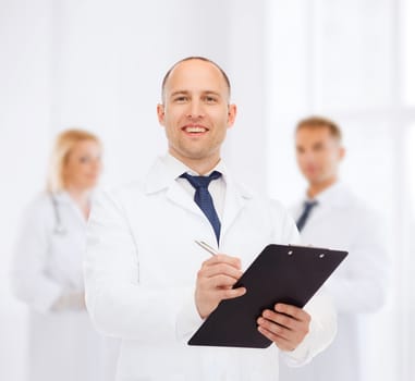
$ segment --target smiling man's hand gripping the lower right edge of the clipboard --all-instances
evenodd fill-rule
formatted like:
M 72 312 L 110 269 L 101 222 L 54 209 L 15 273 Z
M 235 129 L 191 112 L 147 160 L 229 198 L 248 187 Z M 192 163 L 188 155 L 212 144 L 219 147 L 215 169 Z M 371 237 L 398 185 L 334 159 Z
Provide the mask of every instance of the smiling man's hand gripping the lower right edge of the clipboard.
M 294 351 L 309 331 L 312 317 L 302 308 L 278 303 L 257 319 L 258 331 L 281 351 Z

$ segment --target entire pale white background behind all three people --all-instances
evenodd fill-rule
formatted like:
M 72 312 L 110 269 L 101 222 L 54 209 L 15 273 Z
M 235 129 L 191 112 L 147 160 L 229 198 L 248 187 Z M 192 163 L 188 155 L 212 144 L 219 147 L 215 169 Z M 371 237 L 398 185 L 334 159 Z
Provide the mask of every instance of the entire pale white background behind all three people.
M 413 0 L 0 0 L 0 379 L 27 376 L 27 310 L 9 267 L 53 137 L 97 133 L 102 185 L 141 176 L 166 150 L 163 74 L 206 56 L 228 72 L 239 106 L 227 160 L 285 205 L 306 185 L 295 123 L 316 113 L 339 122 L 341 176 L 382 213 L 394 274 L 387 306 L 365 317 L 365 379 L 414 380 L 414 47 Z

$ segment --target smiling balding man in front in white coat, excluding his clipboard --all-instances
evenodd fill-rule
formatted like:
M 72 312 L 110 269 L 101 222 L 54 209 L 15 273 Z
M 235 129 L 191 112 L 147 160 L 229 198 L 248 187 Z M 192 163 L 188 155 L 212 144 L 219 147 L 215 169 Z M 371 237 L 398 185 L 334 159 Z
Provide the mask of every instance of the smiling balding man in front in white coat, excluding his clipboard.
M 268 349 L 186 342 L 220 300 L 246 292 L 232 285 L 267 244 L 297 241 L 295 224 L 278 202 L 236 183 L 220 158 L 236 107 L 217 64 L 173 65 L 157 113 L 168 153 L 144 181 L 98 196 L 88 226 L 86 302 L 96 327 L 122 340 L 118 380 L 278 380 L 279 351 L 301 365 L 332 341 L 335 314 L 321 295 L 305 309 L 263 311 Z M 227 255 L 209 256 L 194 239 Z

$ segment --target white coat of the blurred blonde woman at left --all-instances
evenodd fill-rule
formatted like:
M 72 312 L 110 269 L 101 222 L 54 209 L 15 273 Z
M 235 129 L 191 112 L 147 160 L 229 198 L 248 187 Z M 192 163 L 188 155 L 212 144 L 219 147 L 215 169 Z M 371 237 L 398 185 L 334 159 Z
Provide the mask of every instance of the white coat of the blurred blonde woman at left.
M 50 195 L 27 208 L 17 235 L 11 280 L 29 307 L 30 381 L 113 380 L 117 343 L 108 343 L 84 309 L 53 311 L 61 295 L 84 291 L 82 271 L 86 221 L 66 193 L 56 195 L 58 226 Z M 61 228 L 63 233 L 57 233 Z M 112 374 L 111 374 L 112 373 Z

